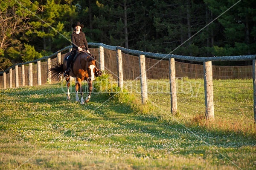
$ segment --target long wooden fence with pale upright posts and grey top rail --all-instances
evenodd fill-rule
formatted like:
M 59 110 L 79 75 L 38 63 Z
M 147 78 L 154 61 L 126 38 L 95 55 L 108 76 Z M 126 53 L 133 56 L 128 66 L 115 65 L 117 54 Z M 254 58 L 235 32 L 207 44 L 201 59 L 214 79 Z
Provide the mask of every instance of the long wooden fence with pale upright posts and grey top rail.
M 182 75 L 191 77 L 189 74 L 193 74 L 195 78 L 204 78 L 204 96 L 205 96 L 205 115 L 207 120 L 214 120 L 214 103 L 213 103 L 213 79 L 231 79 L 236 78 L 236 76 L 242 76 L 244 78 L 253 78 L 253 112 L 254 112 L 254 122 L 256 122 L 256 55 L 244 55 L 244 56 L 223 56 L 223 57 L 191 57 L 191 56 L 180 56 L 172 54 L 159 54 L 151 52 L 143 52 L 138 50 L 126 49 L 120 46 L 109 46 L 103 43 L 88 43 L 90 46 L 97 46 L 98 49 L 90 49 L 93 55 L 98 55 L 99 58 L 99 68 L 104 71 L 105 68 L 112 69 L 114 78 L 117 79 L 118 86 L 122 89 L 124 80 L 134 78 L 140 78 L 140 90 L 142 103 L 146 103 L 148 100 L 148 89 L 147 89 L 147 79 L 159 79 L 159 78 L 169 78 L 170 86 L 170 97 L 171 97 L 171 112 L 177 112 L 177 91 L 176 91 L 176 75 L 177 72 L 182 72 Z M 15 64 L 9 69 L 0 72 L 0 88 L 6 89 L 7 87 L 12 88 L 12 84 L 15 82 L 15 87 L 19 86 L 33 86 L 41 85 L 42 81 L 50 83 L 52 81 L 51 75 L 41 76 L 42 72 L 47 73 L 47 70 L 51 67 L 51 59 L 58 60 L 61 62 L 61 53 L 70 50 L 72 46 L 67 46 L 58 52 L 50 56 L 40 58 L 38 60 L 29 61 L 26 63 Z M 106 52 L 108 57 L 106 57 Z M 137 58 L 128 58 L 126 55 L 133 54 L 137 55 Z M 57 58 L 56 58 L 57 56 Z M 155 60 L 155 62 L 150 65 L 145 64 L 145 56 L 155 58 L 148 60 Z M 110 58 L 115 58 L 116 63 L 110 62 Z M 203 63 L 202 65 L 195 65 L 189 63 L 176 62 L 175 59 L 185 60 L 185 61 L 196 61 Z M 41 61 L 47 60 L 47 64 L 41 65 Z M 134 61 L 132 61 L 134 60 Z M 163 62 L 168 60 L 169 62 Z M 212 66 L 212 61 L 253 61 L 252 66 Z M 33 67 L 33 63 L 36 64 L 36 68 Z M 125 72 L 132 72 L 133 74 L 123 74 L 123 65 L 128 65 L 130 63 L 138 63 L 137 67 L 132 65 L 129 68 L 125 68 Z M 183 65 L 186 64 L 186 67 Z M 28 66 L 27 66 L 28 65 Z M 153 66 L 156 70 L 151 70 Z M 26 69 L 25 67 L 28 67 Z M 136 68 L 136 69 L 134 69 Z M 169 72 L 161 72 L 163 69 L 169 69 Z M 189 70 L 184 70 L 184 68 Z M 227 71 L 227 68 L 229 71 Z M 13 72 L 13 69 L 15 72 Z M 43 69 L 43 70 L 41 70 Z M 127 70 L 129 69 L 129 70 Z M 193 71 L 192 71 L 193 70 Z M 225 70 L 225 72 L 224 72 Z M 244 71 L 245 70 L 245 71 Z M 150 72 L 160 72 L 160 75 L 151 74 Z M 6 74 L 9 72 L 9 74 Z M 223 72 L 223 74 L 221 73 Z M 20 74 L 21 73 L 21 74 Z M 252 74 L 250 74 L 252 73 Z M 131 77 L 131 75 L 133 77 Z M 138 75 L 135 76 L 134 75 Z M 180 75 L 180 74 L 179 74 Z M 202 76 L 203 75 L 203 76 Z M 37 79 L 35 79 L 37 77 Z M 42 80 L 44 79 L 44 80 Z M 9 81 L 8 81 L 9 80 Z M 26 80 L 28 82 L 26 83 Z M 9 86 L 8 86 L 9 85 Z

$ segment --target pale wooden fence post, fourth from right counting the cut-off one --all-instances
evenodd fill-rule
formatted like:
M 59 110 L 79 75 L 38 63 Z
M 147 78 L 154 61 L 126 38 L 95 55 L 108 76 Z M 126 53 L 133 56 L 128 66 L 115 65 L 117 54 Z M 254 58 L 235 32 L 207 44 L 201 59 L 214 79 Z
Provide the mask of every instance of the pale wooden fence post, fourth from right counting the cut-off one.
M 146 77 L 146 66 L 145 66 L 145 55 L 139 55 L 140 62 L 140 91 L 142 103 L 145 104 L 148 101 L 148 89 L 147 89 L 147 77 Z

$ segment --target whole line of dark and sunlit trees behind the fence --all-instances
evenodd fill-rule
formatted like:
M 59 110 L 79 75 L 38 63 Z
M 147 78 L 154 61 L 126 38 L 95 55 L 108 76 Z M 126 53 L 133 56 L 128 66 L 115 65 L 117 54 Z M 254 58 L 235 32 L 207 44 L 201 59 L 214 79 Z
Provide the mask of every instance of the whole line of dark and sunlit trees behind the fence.
M 76 21 L 84 24 L 88 42 L 198 57 L 254 55 L 255 4 L 256 0 L 1 0 L 0 70 L 71 45 L 71 25 Z

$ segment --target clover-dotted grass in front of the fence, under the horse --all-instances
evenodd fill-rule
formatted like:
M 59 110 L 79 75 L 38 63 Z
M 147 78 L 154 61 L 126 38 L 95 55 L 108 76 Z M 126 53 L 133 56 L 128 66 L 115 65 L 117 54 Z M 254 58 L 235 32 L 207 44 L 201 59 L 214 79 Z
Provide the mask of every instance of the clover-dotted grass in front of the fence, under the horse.
M 81 105 L 60 84 L 1 89 L 0 170 L 256 169 L 255 128 L 211 129 L 110 96 Z

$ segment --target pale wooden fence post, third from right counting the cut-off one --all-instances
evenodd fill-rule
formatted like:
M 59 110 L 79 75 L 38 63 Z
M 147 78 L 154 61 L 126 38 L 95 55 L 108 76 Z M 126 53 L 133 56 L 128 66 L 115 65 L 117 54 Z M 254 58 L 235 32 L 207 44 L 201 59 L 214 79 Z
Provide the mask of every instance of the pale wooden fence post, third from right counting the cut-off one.
M 177 113 L 177 91 L 176 91 L 176 75 L 175 75 L 175 59 L 169 58 L 169 81 L 171 94 L 171 112 Z

